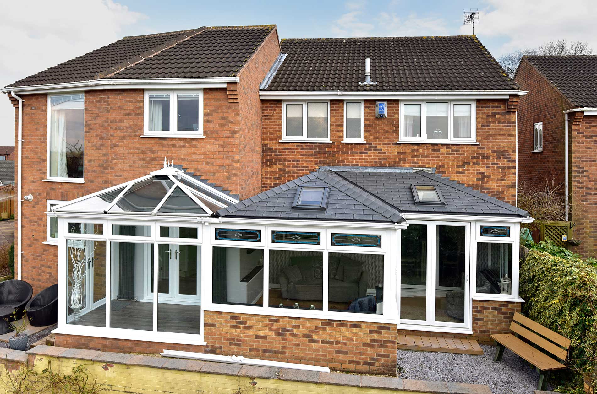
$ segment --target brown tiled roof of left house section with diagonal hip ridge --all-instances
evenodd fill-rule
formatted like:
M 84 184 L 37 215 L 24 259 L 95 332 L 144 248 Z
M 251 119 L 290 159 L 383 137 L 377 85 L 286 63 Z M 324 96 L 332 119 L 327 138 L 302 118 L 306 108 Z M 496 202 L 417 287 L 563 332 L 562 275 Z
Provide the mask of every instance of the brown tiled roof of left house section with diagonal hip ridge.
M 125 37 L 8 85 L 236 76 L 275 25 L 199 27 Z

